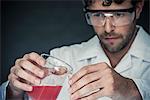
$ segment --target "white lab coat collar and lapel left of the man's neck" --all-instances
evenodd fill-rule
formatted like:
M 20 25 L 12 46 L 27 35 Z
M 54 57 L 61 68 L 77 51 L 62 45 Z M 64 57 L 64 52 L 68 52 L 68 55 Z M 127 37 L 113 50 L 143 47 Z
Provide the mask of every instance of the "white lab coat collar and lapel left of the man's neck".
M 82 44 L 82 48 L 78 52 L 77 61 L 83 61 L 92 58 L 95 58 L 93 64 L 106 62 L 108 65 L 110 65 L 110 61 L 104 53 L 97 36 L 94 36 L 88 42 Z

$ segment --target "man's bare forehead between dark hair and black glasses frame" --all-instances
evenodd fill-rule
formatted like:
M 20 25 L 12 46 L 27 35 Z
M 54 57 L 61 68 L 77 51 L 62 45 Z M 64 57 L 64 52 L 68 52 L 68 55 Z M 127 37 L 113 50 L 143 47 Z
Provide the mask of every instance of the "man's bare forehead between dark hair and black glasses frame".
M 132 7 L 131 0 L 125 0 L 121 4 L 112 3 L 110 6 L 103 6 L 103 0 L 94 0 L 94 2 L 89 6 L 92 10 L 108 10 L 108 9 L 127 9 Z

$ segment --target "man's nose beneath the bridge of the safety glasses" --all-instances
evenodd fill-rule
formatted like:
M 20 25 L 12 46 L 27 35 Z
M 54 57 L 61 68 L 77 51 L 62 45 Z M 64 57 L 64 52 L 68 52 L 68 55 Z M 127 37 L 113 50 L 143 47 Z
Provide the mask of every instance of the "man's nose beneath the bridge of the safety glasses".
M 110 18 L 106 18 L 104 28 L 107 33 L 114 31 L 115 26 L 113 25 Z

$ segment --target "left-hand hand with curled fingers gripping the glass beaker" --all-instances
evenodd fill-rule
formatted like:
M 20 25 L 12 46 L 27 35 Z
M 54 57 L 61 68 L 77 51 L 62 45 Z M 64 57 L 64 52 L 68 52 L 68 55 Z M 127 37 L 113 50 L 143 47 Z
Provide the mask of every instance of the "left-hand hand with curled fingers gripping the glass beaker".
M 32 91 L 31 84 L 40 84 L 40 79 L 44 77 L 44 64 L 45 60 L 34 52 L 17 59 L 8 76 L 11 94 L 17 96 L 23 91 Z

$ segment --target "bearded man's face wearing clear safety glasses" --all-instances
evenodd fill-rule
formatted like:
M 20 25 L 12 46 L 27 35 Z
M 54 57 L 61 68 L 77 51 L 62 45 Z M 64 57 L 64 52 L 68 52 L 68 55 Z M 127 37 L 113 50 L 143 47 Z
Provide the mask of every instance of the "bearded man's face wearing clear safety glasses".
M 101 44 L 109 52 L 118 52 L 131 40 L 142 10 L 142 4 L 134 8 L 130 0 L 122 4 L 103 6 L 103 0 L 95 0 L 88 8 L 87 16 Z

